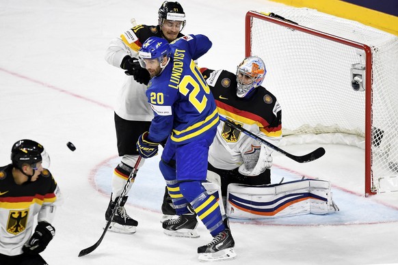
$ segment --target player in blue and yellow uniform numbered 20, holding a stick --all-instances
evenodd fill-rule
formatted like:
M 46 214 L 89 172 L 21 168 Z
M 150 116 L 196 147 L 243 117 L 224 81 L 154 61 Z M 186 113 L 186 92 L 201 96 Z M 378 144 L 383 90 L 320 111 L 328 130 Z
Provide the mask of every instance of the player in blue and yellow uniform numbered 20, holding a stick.
M 152 37 L 142 44 L 140 63 L 152 77 L 146 96 L 155 117 L 149 132 L 138 139 L 137 150 L 144 158 L 155 156 L 159 143 L 167 139 L 159 168 L 178 218 L 163 222 L 165 234 L 198 237 L 190 205 L 213 236 L 209 244 L 198 248 L 199 259 L 225 260 L 235 257 L 235 242 L 228 220 L 222 220 L 217 198 L 202 185 L 219 118 L 194 60 L 209 48 L 211 41 L 203 35 L 184 36 L 171 44 Z

